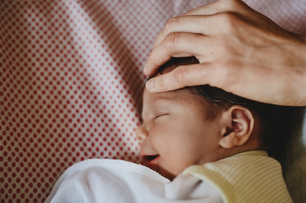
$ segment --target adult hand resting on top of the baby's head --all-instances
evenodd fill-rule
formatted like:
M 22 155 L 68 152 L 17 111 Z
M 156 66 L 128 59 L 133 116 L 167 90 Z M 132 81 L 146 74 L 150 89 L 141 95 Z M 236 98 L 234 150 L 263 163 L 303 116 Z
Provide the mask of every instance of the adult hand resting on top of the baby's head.
M 150 92 L 209 84 L 265 103 L 306 106 L 306 37 L 288 32 L 240 0 L 219 0 L 171 18 L 144 72 L 171 57 L 196 56 L 149 80 Z

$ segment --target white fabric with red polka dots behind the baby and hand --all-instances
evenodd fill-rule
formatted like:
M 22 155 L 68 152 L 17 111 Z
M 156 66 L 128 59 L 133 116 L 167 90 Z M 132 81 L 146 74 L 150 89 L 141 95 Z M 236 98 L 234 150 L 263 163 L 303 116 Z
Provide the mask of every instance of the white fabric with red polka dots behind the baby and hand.
M 90 158 L 140 163 L 142 68 L 167 20 L 205 0 L 0 1 L 0 203 L 41 203 Z M 306 34 L 306 2 L 251 1 Z

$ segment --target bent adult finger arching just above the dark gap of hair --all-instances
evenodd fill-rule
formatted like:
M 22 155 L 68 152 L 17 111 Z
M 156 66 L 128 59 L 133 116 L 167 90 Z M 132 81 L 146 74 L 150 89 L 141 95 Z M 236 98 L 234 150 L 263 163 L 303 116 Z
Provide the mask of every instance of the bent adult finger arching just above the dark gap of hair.
M 209 46 L 211 43 L 212 40 L 209 36 L 193 33 L 170 33 L 153 48 L 144 67 L 144 73 L 147 75 L 154 74 L 171 57 L 196 56 L 200 62 L 207 62 L 210 59 L 204 57 L 214 53 L 212 50 L 216 48 Z M 207 48 L 205 49 L 205 47 Z

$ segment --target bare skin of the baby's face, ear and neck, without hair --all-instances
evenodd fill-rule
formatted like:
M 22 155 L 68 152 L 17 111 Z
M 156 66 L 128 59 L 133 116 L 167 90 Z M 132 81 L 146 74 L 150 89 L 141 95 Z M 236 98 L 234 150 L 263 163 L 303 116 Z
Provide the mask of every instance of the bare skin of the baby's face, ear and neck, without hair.
M 206 108 L 187 90 L 144 90 L 143 124 L 135 134 L 147 166 L 173 180 L 188 166 L 259 149 L 261 125 L 249 110 L 236 105 L 206 119 Z

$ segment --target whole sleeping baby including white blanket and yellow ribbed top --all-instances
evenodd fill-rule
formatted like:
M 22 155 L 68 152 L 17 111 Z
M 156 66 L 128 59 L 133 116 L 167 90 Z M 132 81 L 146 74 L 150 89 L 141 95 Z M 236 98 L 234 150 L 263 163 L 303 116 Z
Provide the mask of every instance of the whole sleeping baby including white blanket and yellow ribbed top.
M 195 57 L 172 58 L 156 75 L 196 63 Z M 209 85 L 145 89 L 135 134 L 146 166 L 107 159 L 77 163 L 45 202 L 290 203 L 277 159 L 292 113 Z

